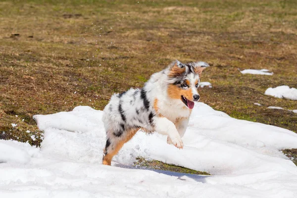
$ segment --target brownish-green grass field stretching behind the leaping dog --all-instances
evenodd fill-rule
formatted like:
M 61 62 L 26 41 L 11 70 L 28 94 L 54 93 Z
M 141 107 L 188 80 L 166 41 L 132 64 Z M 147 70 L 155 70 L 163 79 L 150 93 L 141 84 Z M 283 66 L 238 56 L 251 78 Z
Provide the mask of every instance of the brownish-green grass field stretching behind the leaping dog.
M 200 101 L 297 132 L 296 113 L 267 109 L 297 101 L 264 95 L 297 88 L 295 0 L 0 0 L 0 139 L 39 146 L 34 114 L 102 109 L 175 59 L 211 65 Z

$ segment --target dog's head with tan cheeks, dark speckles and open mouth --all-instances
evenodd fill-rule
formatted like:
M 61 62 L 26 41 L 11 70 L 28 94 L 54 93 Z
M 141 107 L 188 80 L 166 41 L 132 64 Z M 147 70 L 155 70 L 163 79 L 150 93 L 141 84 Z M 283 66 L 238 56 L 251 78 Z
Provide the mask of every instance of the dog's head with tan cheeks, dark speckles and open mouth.
M 188 108 L 194 108 L 194 101 L 198 101 L 198 83 L 200 76 L 209 65 L 205 62 L 181 63 L 176 60 L 168 66 L 168 96 L 180 99 Z

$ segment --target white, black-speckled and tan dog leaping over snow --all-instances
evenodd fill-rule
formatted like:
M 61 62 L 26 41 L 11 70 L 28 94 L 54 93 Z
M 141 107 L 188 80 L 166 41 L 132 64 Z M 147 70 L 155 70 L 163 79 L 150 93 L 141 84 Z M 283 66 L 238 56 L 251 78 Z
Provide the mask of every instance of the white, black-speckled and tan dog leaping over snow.
M 176 60 L 151 75 L 142 89 L 114 94 L 102 117 L 106 145 L 102 164 L 111 165 L 112 157 L 138 130 L 167 135 L 167 143 L 183 148 L 194 101 L 199 100 L 198 83 L 205 62 L 181 63 Z

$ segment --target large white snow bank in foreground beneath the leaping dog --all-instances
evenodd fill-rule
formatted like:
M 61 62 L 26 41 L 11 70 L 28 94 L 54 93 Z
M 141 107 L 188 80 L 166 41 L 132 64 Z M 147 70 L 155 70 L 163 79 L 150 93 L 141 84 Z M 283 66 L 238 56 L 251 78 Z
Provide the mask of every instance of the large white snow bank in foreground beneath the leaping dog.
M 44 131 L 41 149 L 0 141 L 0 161 L 7 162 L 0 163 L 0 197 L 297 197 L 297 167 L 279 151 L 297 148 L 292 131 L 237 120 L 198 102 L 184 149 L 168 145 L 165 136 L 138 132 L 106 166 L 101 117 L 88 106 L 34 116 Z M 136 169 L 137 156 L 215 176 Z

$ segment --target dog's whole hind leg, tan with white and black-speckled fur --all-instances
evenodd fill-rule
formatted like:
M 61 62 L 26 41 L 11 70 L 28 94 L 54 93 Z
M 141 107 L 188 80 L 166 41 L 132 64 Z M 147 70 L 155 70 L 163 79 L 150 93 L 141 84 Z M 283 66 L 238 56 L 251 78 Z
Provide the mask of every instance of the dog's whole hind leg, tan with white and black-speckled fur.
M 125 130 L 121 135 L 112 133 L 106 140 L 102 164 L 111 165 L 112 157 L 118 153 L 123 145 L 128 142 L 138 130 L 139 128 Z

